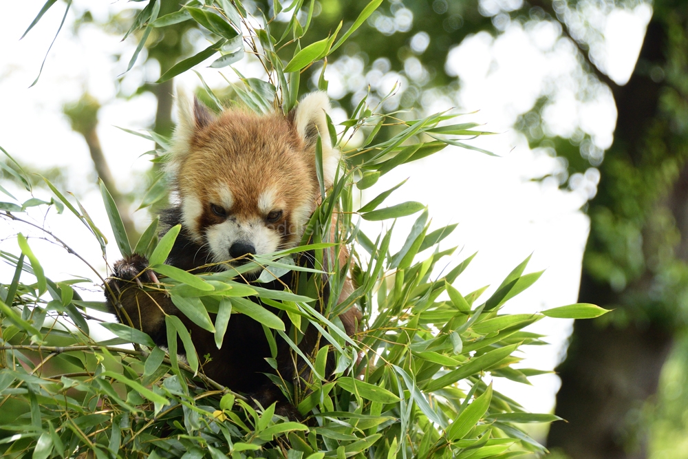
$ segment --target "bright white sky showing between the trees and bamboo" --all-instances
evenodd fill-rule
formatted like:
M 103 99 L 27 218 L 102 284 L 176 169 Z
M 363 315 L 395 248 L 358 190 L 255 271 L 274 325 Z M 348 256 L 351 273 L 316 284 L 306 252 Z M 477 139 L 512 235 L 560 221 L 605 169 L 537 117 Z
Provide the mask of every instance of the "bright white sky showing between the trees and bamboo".
M 105 17 L 107 8 L 128 8 L 123 2 L 108 5 L 76 0 L 74 4 L 88 4 L 100 19 Z M 67 170 L 69 191 L 80 197 L 96 224 L 109 234 L 107 216 L 93 185 L 94 172 L 87 147 L 83 138 L 71 131 L 61 114 L 61 107 L 78 99 L 85 88 L 100 100 L 103 104 L 98 128 L 100 141 L 119 186 L 127 190 L 142 186 L 140 174 L 149 163 L 138 156 L 151 149 L 151 142 L 114 126 L 141 129 L 151 125 L 155 99 L 150 94 L 127 101 L 115 98 L 112 81 L 125 70 L 123 65 L 133 52 L 133 43 L 121 43 L 119 36 L 104 34 L 96 28 L 85 28 L 77 40 L 70 32 L 74 21 L 72 14 L 68 15 L 65 28 L 47 58 L 41 80 L 29 89 L 63 14 L 63 3 L 57 3 L 25 39 L 17 41 L 42 5 L 43 1 L 10 3 L 0 18 L 0 100 L 3 107 L 0 110 L 0 146 L 26 164 Z M 601 55 L 605 69 L 615 81 L 627 81 L 650 14 L 649 7 L 641 6 L 632 11 L 613 10 L 603 17 L 606 41 Z M 109 56 L 115 53 L 127 56 L 125 62 L 114 62 Z M 139 62 L 142 60 L 140 58 Z M 211 86 L 221 84 L 215 70 L 204 67 L 199 70 Z M 429 95 L 423 99 L 425 108 L 431 111 L 450 107 L 460 107 L 466 112 L 480 110 L 464 119 L 483 122 L 486 129 L 500 134 L 476 140 L 475 145 L 502 158 L 450 147 L 427 160 L 385 175 L 369 190 L 367 197 L 410 177 L 409 182 L 392 195 L 389 204 L 418 200 L 429 204 L 431 216 L 434 215 L 433 228 L 454 222 L 460 224 L 443 246 L 463 247 L 453 263 L 479 252 L 455 285 L 464 295 L 492 284 L 493 288 L 486 293 L 490 295 L 512 268 L 533 253 L 527 272 L 542 269 L 546 272 L 535 286 L 510 301 L 506 312 L 537 312 L 575 303 L 581 255 L 588 233 L 588 219 L 578 209 L 594 194 L 596 174 L 591 171 L 578 178 L 576 191 L 568 193 L 559 191 L 551 181 L 529 182 L 529 178 L 555 171 L 557 161 L 544 151 L 530 151 L 526 140 L 512 126 L 516 116 L 530 109 L 545 87 L 555 95 L 555 103 L 546 112 L 545 129 L 554 134 L 570 135 L 580 127 L 593 136 L 598 147 L 606 148 L 612 142 L 616 122 L 616 109 L 609 92 L 601 88 L 594 100 L 585 103 L 577 100 L 579 70 L 572 44 L 559 39 L 559 31 L 545 23 L 533 23 L 525 28 L 512 23 L 506 25 L 504 34 L 496 39 L 486 33 L 469 37 L 451 50 L 447 70 L 460 76 L 462 90 L 454 99 Z M 250 69 L 247 71 L 250 73 Z M 123 86 L 133 91 L 140 81 L 155 81 L 158 72 L 155 65 L 144 68 L 139 63 L 125 77 Z M 193 74 L 182 79 L 187 87 L 198 84 Z M 336 90 L 333 85 L 332 91 Z M 37 192 L 37 197 L 46 196 L 42 191 Z M 138 213 L 137 219 L 142 227 L 147 225 L 148 217 L 144 212 Z M 403 220 L 409 221 L 397 225 L 400 239 L 403 239 L 404 228 L 413 223 L 413 217 Z M 41 215 L 36 215 L 36 222 L 42 222 Z M 94 261 L 100 273 L 104 273 L 105 264 L 102 259 L 98 262 L 98 244 L 74 217 L 50 217 L 47 226 L 78 253 Z M 367 229 L 369 233 L 378 231 L 373 224 L 368 224 Z M 3 238 L 16 232 L 16 228 L 0 223 Z M 402 244 L 402 240 L 397 243 Z M 93 277 L 75 257 L 66 255 L 63 250 L 41 244 L 36 239 L 31 244 L 39 253 L 39 259 L 45 261 L 47 273 L 53 279 L 75 275 Z M 3 240 L 0 248 L 19 253 L 11 240 Z M 116 245 L 110 244 L 109 259 L 115 261 L 118 257 Z M 6 268 L 0 273 L 4 277 L 11 275 Z M 102 293 L 94 289 L 92 295 L 100 299 Z M 526 348 L 526 361 L 522 366 L 555 367 L 563 357 L 563 343 L 570 328 L 571 321 L 561 319 L 544 319 L 532 325 L 529 330 L 548 335 L 552 345 Z M 527 409 L 549 412 L 559 378 L 544 375 L 531 380 L 532 387 L 502 378 L 497 378 L 495 384 L 497 389 Z

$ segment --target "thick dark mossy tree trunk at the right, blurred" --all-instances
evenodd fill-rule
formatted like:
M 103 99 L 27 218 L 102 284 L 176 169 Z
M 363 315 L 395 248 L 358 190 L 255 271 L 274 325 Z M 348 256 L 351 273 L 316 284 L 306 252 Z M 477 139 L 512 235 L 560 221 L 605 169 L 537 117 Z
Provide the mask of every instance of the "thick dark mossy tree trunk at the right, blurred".
M 688 261 L 685 151 L 674 147 L 680 140 L 671 128 L 675 114 L 667 116 L 660 103 L 670 83 L 650 78 L 653 69 L 667 68 L 667 36 L 675 19 L 666 11 L 655 14 L 629 83 L 610 85 L 619 118 L 614 145 L 600 167 L 598 195 L 590 202 L 590 239 L 583 257 L 579 301 L 616 311 L 595 321 L 576 321 L 568 356 L 557 369 L 562 384 L 556 414 L 568 423 L 553 423 L 547 443 L 552 451 L 559 449 L 572 459 L 647 457 L 642 409 L 657 390 L 675 330 L 671 316 L 676 309 L 671 308 L 676 300 L 666 294 L 656 298 L 652 292 L 665 269 L 657 260 L 663 256 L 659 249 L 666 248 L 670 231 L 682 241 L 671 246 L 673 260 Z M 674 173 L 666 172 L 667 165 Z M 623 256 L 630 255 L 610 250 L 610 237 L 597 218 L 601 213 L 611 215 L 613 223 L 605 223 L 607 231 L 612 225 L 638 228 L 642 261 L 635 273 L 623 265 Z M 658 230 L 662 217 L 668 217 L 663 221 L 670 222 L 669 230 Z M 610 265 L 626 269 L 626 279 L 616 289 L 608 279 L 601 279 L 599 270 L 590 270 L 588 261 L 601 256 Z

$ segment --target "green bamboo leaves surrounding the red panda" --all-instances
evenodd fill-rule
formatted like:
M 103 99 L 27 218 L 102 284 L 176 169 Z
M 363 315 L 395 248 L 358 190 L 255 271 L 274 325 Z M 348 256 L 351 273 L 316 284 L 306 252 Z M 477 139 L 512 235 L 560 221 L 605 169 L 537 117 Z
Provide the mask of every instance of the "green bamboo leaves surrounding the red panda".
M 49 0 L 36 21 L 54 3 Z M 264 67 L 266 78 L 244 78 L 237 72 L 239 83 L 230 83 L 237 98 L 258 113 L 287 113 L 297 104 L 300 72 L 326 59 L 379 4 L 380 0 L 371 1 L 346 30 L 340 25 L 330 36 L 303 47 L 300 39 L 312 21 L 313 1 L 273 2 L 275 14 L 290 14 L 280 36 L 271 32 L 274 17 L 268 20 L 231 0 L 194 0 L 162 17 L 158 17 L 159 3 L 151 0 L 129 33 L 140 34 L 144 43 L 151 28 L 195 21 L 213 44 L 182 60 L 160 81 L 211 57 L 215 59 L 211 67 L 224 68 L 251 54 Z M 135 61 L 136 54 L 131 65 Z M 203 86 L 207 98 L 221 109 L 219 98 L 204 82 Z M 321 89 L 326 86 L 321 77 Z M 477 149 L 466 140 L 488 134 L 475 129 L 475 123 L 458 122 L 456 114 L 404 120 L 400 114 L 381 113 L 379 106 L 369 106 L 364 98 L 349 119 L 338 126 L 328 119 L 328 131 L 320 133 L 343 151 L 343 167 L 330 189 L 321 186 L 323 199 L 302 245 L 257 256 L 233 270 L 192 275 L 165 265 L 179 228 L 158 240 L 157 219 L 132 249 L 117 208 L 100 184 L 115 235 L 110 243 L 117 244 L 122 255 L 146 255 L 149 269 L 159 276 L 158 288 L 166 289 L 189 319 L 215 334 L 218 345 L 231 316 L 247 314 L 264 325 L 269 342 L 277 337 L 285 340 L 294 356 L 307 362 L 310 371 L 303 372 L 299 381 L 272 378 L 297 407 L 303 422 L 276 416 L 275 405 L 255 407 L 242 394 L 204 376 L 205 358 L 195 352 L 178 317 L 166 317 L 169 350 L 158 348 L 126 320 L 103 323 L 114 337 L 94 341 L 87 319 L 93 319 L 94 310 L 107 310 L 105 303 L 82 299 L 74 288 L 75 279 L 48 277 L 31 239 L 19 233 L 19 251 L 0 253 L 14 270 L 12 279 L 0 286 L 0 406 L 12 413 L 0 426 L 3 456 L 480 459 L 544 452 L 515 424 L 558 418 L 526 412 L 489 381 L 499 377 L 528 384 L 529 376 L 541 374 L 514 367 L 519 348 L 544 344 L 540 335 L 523 331 L 530 323 L 545 316 L 580 319 L 606 311 L 578 304 L 541 314 L 503 314 L 504 304 L 541 274 L 524 274 L 530 257 L 491 297 L 483 299 L 484 288 L 464 295 L 453 284 L 474 255 L 447 273 L 437 268 L 440 260 L 445 264 L 455 251 L 440 248 L 455 225 L 431 231 L 429 209 L 419 202 L 385 206 L 403 182 L 357 204 L 360 190 L 401 164 L 447 145 Z M 358 132 L 365 140 L 354 145 L 352 138 Z M 157 134 L 147 137 L 159 145 L 155 161 L 164 160 L 169 139 Z M 10 161 L 3 167 L 32 193 L 24 171 L 5 153 Z M 316 158 L 321 160 L 320 148 Z M 321 162 L 316 164 L 321 170 Z M 107 240 L 98 229 L 103 222 L 94 222 L 78 201 L 47 184 L 52 198 L 32 197 L 23 202 L 0 188 L 8 196 L 8 202 L 0 203 L 1 217 L 19 227 L 31 224 L 23 213 L 32 206 L 67 209 L 63 217 L 76 217 L 85 224 L 105 254 Z M 157 202 L 164 193 L 164 186 L 154 184 L 142 206 Z M 393 253 L 394 222 L 411 215 L 416 220 L 405 243 Z M 361 220 L 383 222 L 386 230 L 367 235 L 361 230 Z M 333 221 L 342 228 L 334 235 L 330 232 Z M 59 235 L 34 229 L 74 253 Z M 336 303 L 349 273 L 332 265 L 332 257 L 325 253 L 338 252 L 343 246 L 352 248 L 350 275 L 356 290 L 343 303 Z M 313 268 L 294 263 L 294 257 L 305 251 L 314 257 Z M 237 276 L 255 264 L 264 269 L 261 281 L 289 270 L 299 272 L 298 288 L 275 291 L 261 288 L 260 283 L 237 282 Z M 96 284 L 103 285 L 103 273 L 94 270 L 94 277 Z M 325 288 L 330 289 L 329 295 Z M 249 297 L 259 297 L 278 313 Z M 364 323 L 360 332 L 349 337 L 338 314 L 354 305 L 363 311 Z M 297 345 L 298 330 L 306 324 L 321 335 L 321 346 L 313 355 L 303 355 Z M 177 337 L 183 349 L 177 349 Z M 178 354 L 185 354 L 185 361 Z M 269 360 L 274 359 L 272 355 Z M 334 372 L 327 372 L 328 359 L 335 363 Z

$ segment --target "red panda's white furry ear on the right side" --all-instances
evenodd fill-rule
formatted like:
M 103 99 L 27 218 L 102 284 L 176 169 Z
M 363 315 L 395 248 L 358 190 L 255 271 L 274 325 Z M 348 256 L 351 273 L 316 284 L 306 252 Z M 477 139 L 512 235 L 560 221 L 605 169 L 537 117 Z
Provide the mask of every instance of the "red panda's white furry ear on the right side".
M 323 142 L 323 175 L 325 186 L 332 186 L 334 176 L 339 167 L 341 154 L 332 147 L 330 134 L 327 129 L 327 118 L 325 114 L 330 109 L 330 98 L 323 91 L 308 94 L 299 103 L 299 106 L 288 115 L 288 120 L 296 129 L 297 134 L 308 151 L 315 148 L 318 134 Z

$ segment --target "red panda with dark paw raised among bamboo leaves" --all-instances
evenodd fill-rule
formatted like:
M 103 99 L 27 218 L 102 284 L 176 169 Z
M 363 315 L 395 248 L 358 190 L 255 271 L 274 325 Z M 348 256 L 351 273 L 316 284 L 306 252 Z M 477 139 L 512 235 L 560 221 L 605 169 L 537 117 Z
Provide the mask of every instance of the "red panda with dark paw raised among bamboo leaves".
M 192 272 L 221 270 L 243 264 L 251 255 L 297 246 L 320 198 L 315 162 L 319 133 L 325 134 L 326 187 L 332 185 L 341 160 L 326 135 L 327 95 L 315 92 L 305 96 L 287 116 L 258 115 L 241 108 L 215 116 L 197 99 L 191 102 L 183 94 L 178 94 L 177 105 L 179 125 L 166 171 L 178 202 L 162 212 L 161 236 L 176 224 L 182 229 L 166 264 Z M 346 254 L 339 258 L 342 267 Z M 203 367 L 206 376 L 248 394 L 264 407 L 280 402 L 278 413 L 296 414 L 266 376 L 275 370 L 265 360 L 270 348 L 260 323 L 233 314 L 222 348 L 217 349 L 213 334 L 187 319 L 164 292 L 144 291 L 132 281 L 156 280 L 149 271 L 140 275 L 146 266 L 147 259 L 140 255 L 114 265 L 106 296 L 120 321 L 130 320 L 156 344 L 166 345 L 164 314 L 180 317 L 191 332 L 197 354 L 211 356 Z M 257 273 L 253 276 L 255 279 Z M 282 290 L 291 281 L 288 273 L 267 287 Z M 340 299 L 352 291 L 347 281 Z M 361 313 L 351 308 L 340 318 L 347 333 L 353 334 Z M 310 326 L 299 346 L 308 355 L 317 341 L 317 332 Z M 297 377 L 288 345 L 279 339 L 277 371 L 288 382 Z

